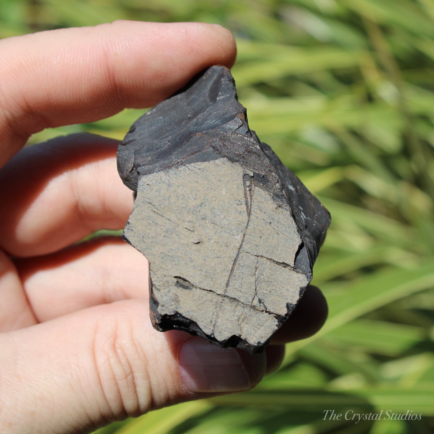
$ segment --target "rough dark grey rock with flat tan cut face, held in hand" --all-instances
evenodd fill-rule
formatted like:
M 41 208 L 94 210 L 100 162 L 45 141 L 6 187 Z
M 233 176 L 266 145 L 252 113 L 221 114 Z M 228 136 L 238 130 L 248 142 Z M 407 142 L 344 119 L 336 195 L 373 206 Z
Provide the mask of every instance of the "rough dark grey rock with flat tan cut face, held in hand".
M 137 193 L 124 238 L 149 260 L 155 329 L 262 351 L 312 279 L 330 214 L 250 130 L 230 71 L 141 116 L 118 172 Z

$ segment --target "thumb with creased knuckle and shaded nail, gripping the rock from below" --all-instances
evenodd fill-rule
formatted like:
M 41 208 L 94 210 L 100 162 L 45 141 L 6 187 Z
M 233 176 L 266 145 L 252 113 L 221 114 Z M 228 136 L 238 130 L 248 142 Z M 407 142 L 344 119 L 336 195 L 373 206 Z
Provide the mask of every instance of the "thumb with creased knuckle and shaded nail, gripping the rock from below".
M 91 431 L 175 402 L 250 389 L 266 367 L 264 353 L 157 332 L 142 300 L 5 333 L 0 348 L 2 432 Z

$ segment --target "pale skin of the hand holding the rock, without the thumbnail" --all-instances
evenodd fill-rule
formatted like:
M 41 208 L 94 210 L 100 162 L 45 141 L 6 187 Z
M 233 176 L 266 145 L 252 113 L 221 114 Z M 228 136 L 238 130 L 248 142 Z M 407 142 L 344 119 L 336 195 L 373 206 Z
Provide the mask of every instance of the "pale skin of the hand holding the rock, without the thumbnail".
M 228 30 L 201 23 L 121 21 L 0 41 L 1 432 L 89 432 L 222 393 L 186 387 L 178 349 L 201 338 L 152 328 L 141 253 L 114 238 L 71 246 L 128 219 L 118 142 L 71 135 L 22 148 L 47 127 L 155 105 L 235 56 Z M 265 353 L 240 351 L 249 387 L 326 312 L 309 287 Z

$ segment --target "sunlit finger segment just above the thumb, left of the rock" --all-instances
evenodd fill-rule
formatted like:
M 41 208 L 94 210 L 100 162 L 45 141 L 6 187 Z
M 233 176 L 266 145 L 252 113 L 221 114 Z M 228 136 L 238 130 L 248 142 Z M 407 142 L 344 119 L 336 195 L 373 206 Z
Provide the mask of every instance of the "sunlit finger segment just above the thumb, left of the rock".
M 97 238 L 15 263 L 38 322 L 118 300 L 149 299 L 148 260 L 120 238 Z

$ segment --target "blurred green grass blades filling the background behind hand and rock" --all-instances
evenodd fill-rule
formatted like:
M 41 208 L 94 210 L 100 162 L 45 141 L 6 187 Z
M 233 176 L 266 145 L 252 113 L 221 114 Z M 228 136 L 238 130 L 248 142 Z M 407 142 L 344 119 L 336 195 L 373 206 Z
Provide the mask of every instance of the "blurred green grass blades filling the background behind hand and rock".
M 253 391 L 99 434 L 434 431 L 434 0 L 0 0 L 0 37 L 116 19 L 220 23 L 249 123 L 332 214 L 313 283 L 316 336 Z M 123 138 L 140 110 L 45 130 Z M 420 421 L 324 421 L 422 413 Z M 384 418 L 385 414 L 383 414 Z

